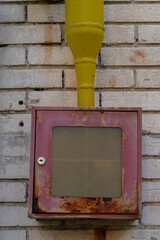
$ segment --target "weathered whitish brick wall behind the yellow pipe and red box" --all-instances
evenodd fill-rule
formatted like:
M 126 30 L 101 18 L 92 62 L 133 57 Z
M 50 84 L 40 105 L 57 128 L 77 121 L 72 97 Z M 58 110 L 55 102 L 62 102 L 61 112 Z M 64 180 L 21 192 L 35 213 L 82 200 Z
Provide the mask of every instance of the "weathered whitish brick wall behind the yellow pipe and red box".
M 143 108 L 143 215 L 104 221 L 106 240 L 160 239 L 160 2 L 112 0 L 97 58 L 95 105 Z M 77 106 L 64 2 L 0 0 L 0 239 L 94 240 L 101 221 L 27 217 L 32 106 Z

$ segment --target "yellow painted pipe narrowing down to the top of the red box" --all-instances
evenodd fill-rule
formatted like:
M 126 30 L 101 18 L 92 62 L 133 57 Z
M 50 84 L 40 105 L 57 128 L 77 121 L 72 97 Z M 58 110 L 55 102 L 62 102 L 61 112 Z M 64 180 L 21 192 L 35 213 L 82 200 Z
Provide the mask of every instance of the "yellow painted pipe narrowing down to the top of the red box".
M 75 59 L 78 106 L 94 106 L 96 57 L 104 38 L 103 0 L 65 0 L 66 39 Z

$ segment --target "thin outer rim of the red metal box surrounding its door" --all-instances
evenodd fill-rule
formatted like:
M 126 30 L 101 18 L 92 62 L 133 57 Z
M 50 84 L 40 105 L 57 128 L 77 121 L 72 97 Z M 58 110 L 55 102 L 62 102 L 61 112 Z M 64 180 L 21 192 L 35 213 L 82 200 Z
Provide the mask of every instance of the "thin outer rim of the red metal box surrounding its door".
M 36 136 L 36 114 L 37 111 L 134 111 L 137 112 L 137 173 L 138 173 L 138 213 L 137 214 L 37 214 L 33 213 L 34 194 L 34 166 L 35 166 L 35 136 Z M 104 108 L 104 107 L 32 107 L 31 118 L 31 153 L 30 153 L 30 178 L 29 178 L 29 211 L 28 216 L 35 219 L 140 219 L 142 215 L 142 108 Z

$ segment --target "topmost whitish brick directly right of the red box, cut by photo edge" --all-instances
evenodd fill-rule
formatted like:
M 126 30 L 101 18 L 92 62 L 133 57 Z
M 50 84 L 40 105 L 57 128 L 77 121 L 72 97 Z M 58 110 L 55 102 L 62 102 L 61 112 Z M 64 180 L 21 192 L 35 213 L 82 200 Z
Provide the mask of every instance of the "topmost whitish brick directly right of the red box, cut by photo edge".
M 142 129 L 143 133 L 160 133 L 160 114 L 143 113 Z

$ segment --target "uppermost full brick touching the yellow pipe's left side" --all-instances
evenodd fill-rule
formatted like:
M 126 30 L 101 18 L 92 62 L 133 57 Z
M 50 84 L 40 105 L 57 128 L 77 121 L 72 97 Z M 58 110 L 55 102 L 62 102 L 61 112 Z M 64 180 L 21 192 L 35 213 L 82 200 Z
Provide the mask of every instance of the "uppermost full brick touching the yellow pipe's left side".
M 65 22 L 65 10 L 63 4 L 54 5 L 29 5 L 29 22 Z

